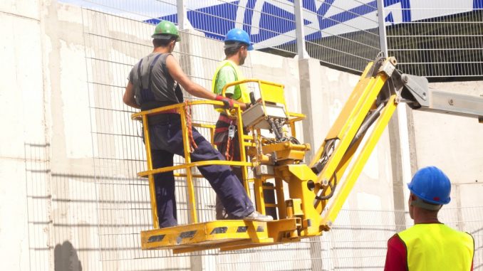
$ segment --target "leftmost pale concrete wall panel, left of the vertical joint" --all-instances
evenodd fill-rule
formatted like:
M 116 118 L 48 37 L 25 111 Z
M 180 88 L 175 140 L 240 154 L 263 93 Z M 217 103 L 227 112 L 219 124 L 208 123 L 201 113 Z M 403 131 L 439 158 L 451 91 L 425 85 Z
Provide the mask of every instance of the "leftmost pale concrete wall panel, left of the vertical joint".
M 39 146 L 47 142 L 39 8 L 38 1 L 0 4 L 0 257 L 5 270 L 28 270 L 30 266 L 26 171 L 31 161 L 26 159 L 26 142 Z M 36 157 L 39 169 L 45 169 L 46 159 L 46 155 Z M 48 249 L 47 236 L 40 238 Z

